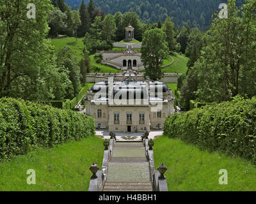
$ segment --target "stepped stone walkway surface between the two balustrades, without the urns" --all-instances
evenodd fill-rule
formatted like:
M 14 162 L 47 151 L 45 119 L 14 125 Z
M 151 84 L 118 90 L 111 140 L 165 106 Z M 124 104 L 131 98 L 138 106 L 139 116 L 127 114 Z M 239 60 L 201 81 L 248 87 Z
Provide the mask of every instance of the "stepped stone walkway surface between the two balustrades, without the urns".
M 116 142 L 103 191 L 152 191 L 143 142 Z

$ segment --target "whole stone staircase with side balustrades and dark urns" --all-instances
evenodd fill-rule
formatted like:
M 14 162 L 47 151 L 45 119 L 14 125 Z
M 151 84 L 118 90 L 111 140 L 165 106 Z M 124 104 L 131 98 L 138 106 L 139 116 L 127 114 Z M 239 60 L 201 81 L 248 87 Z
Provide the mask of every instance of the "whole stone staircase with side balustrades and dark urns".
M 95 164 L 90 167 L 89 191 L 167 191 L 166 166 L 159 166 L 160 172 L 155 170 L 154 142 L 148 141 L 148 135 L 136 142 L 118 142 L 115 134 L 109 135 L 110 143 L 104 141 L 102 170 Z

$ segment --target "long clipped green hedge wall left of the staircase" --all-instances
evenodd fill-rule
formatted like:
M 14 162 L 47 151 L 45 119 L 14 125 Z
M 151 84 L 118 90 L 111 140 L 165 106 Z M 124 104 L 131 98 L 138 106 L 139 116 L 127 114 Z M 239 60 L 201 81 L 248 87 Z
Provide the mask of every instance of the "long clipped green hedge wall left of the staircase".
M 0 99 L 0 158 L 25 154 L 33 147 L 93 136 L 92 117 L 72 110 L 12 98 Z

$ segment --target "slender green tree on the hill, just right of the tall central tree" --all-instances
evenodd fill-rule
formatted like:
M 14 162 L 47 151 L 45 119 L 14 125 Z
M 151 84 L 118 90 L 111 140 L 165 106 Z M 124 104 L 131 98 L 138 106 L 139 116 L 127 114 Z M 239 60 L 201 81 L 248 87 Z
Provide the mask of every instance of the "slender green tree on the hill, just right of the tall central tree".
M 174 27 L 170 17 L 166 18 L 163 24 L 163 31 L 166 34 L 166 41 L 168 43 L 169 51 L 173 52 L 175 50 L 175 40 L 174 40 Z

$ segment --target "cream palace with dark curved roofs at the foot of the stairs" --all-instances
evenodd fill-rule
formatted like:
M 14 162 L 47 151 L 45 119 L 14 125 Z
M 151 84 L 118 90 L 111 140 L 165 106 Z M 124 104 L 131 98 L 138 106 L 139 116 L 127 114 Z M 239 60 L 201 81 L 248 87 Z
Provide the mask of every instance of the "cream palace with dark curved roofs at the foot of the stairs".
M 86 95 L 86 114 L 96 128 L 115 132 L 144 132 L 162 129 L 173 113 L 174 97 L 166 84 L 157 81 L 97 82 Z

